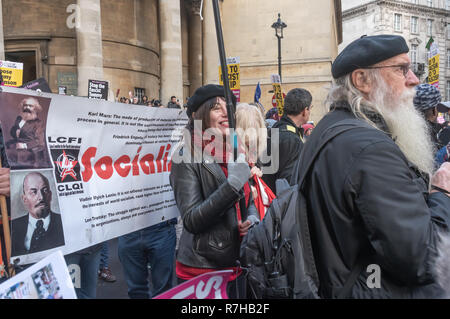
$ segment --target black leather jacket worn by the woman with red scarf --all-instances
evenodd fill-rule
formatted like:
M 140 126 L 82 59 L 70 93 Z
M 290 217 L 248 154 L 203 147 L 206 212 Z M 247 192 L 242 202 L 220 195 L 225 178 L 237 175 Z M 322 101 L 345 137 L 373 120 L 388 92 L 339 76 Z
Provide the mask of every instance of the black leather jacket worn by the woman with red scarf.
M 183 156 L 186 151 L 181 146 L 175 152 L 170 172 L 183 220 L 177 260 L 196 268 L 234 267 L 241 243 L 235 204 L 243 193 L 230 186 L 219 164 L 210 158 L 177 164 L 177 154 Z M 251 198 L 248 219 L 256 221 L 259 214 Z

